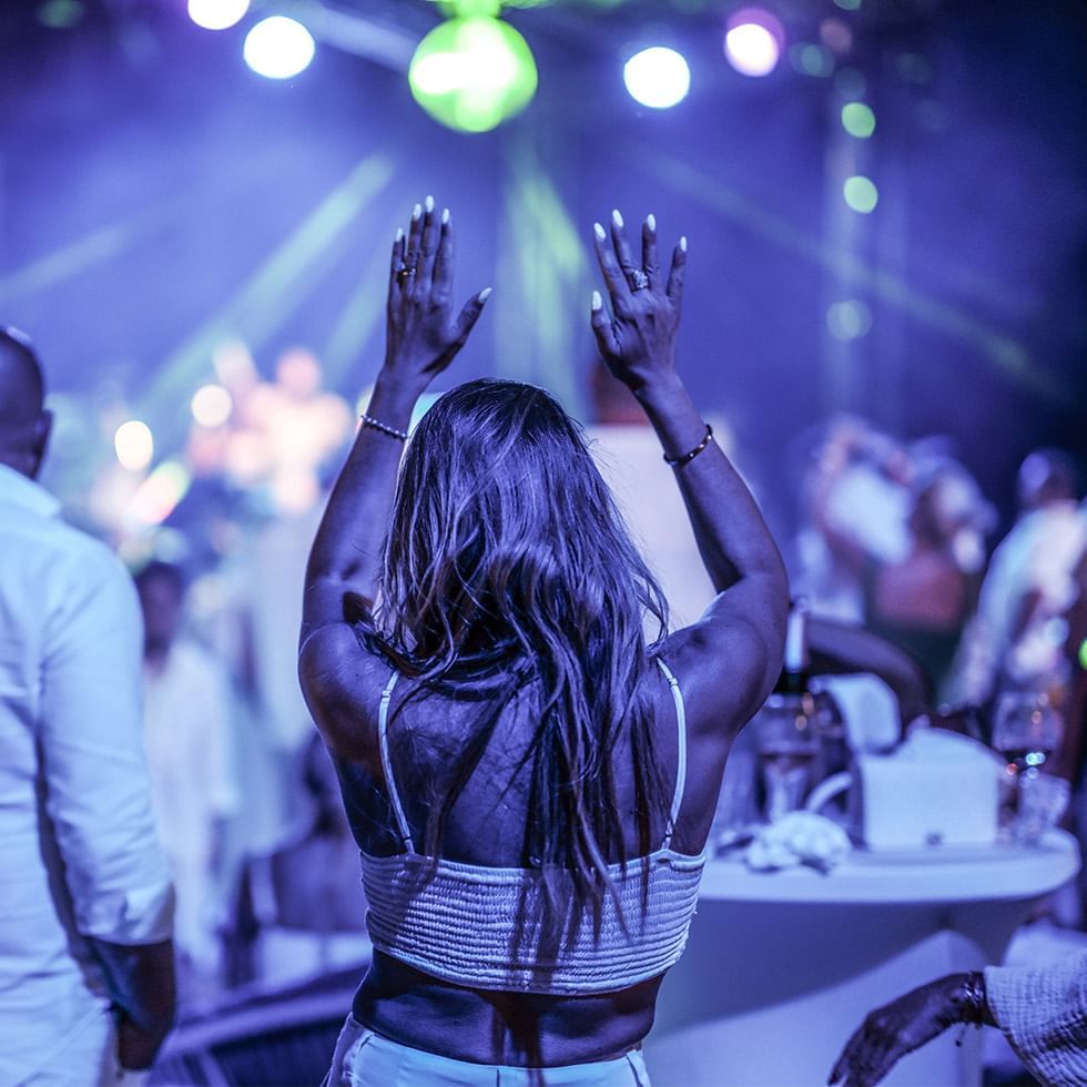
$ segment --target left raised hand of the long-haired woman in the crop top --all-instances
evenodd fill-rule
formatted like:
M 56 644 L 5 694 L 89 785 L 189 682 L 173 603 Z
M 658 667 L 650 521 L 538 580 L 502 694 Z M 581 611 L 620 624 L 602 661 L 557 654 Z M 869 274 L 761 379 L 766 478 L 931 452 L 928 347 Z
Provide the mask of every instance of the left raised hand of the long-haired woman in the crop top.
M 393 242 L 388 285 L 385 373 L 421 393 L 464 347 L 490 287 L 474 294 L 459 313 L 453 308 L 453 221 L 434 200 L 416 204 L 405 235 Z

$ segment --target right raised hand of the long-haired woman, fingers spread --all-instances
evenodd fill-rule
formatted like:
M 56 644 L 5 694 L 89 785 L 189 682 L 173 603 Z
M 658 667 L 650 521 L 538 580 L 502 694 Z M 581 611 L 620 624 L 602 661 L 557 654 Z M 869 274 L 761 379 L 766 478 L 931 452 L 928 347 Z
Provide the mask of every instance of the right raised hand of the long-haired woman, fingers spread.
M 654 377 L 672 373 L 675 333 L 683 297 L 687 238 L 672 250 L 666 277 L 657 256 L 657 221 L 647 216 L 641 227 L 641 254 L 636 260 L 627 242 L 622 215 L 611 213 L 608 232 L 593 224 L 597 260 L 611 299 L 611 315 L 598 292 L 592 293 L 592 331 L 611 373 L 637 392 Z

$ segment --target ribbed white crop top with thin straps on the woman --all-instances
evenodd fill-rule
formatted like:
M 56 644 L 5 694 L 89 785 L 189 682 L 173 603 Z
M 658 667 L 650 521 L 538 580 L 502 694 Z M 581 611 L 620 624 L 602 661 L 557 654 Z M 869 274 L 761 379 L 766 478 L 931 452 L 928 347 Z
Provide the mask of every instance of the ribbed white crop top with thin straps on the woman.
M 679 734 L 675 791 L 664 841 L 657 852 L 628 862 L 626 871 L 618 864 L 610 866 L 616 894 L 606 895 L 599 931 L 591 910 L 585 911 L 578 924 L 568 922 L 559 946 L 546 953 L 546 961 L 539 952 L 542 890 L 537 871 L 445 857 L 435 862 L 415 852 L 388 758 L 394 673 L 382 694 L 378 738 L 406 852 L 383 857 L 362 854 L 374 947 L 457 985 L 552 995 L 613 992 L 673 965 L 687 944 L 705 853 L 687 856 L 670 847 L 687 774 L 687 723 L 679 684 L 664 662 L 658 663 L 672 689 Z M 522 902 L 525 922 L 518 934 Z M 515 941 L 519 946 L 514 946 Z

